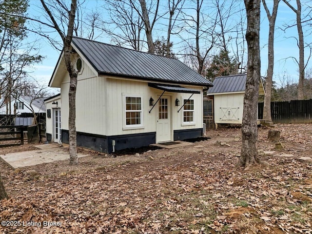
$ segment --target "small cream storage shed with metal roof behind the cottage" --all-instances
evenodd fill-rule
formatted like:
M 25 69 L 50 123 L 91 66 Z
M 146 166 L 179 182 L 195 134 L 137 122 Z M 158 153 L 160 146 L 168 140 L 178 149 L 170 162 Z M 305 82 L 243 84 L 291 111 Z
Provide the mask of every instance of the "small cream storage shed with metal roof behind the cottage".
M 213 87 L 207 95 L 213 96 L 214 122 L 217 124 L 241 124 L 243 118 L 244 95 L 247 74 L 216 77 Z M 259 95 L 264 95 L 264 86 L 260 78 Z

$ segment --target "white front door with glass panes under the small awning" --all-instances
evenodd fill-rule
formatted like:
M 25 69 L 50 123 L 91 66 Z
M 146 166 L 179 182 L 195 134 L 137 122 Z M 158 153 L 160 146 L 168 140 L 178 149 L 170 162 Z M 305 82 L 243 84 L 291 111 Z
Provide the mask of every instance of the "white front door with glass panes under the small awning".
M 162 96 L 158 101 L 156 142 L 171 141 L 170 97 Z

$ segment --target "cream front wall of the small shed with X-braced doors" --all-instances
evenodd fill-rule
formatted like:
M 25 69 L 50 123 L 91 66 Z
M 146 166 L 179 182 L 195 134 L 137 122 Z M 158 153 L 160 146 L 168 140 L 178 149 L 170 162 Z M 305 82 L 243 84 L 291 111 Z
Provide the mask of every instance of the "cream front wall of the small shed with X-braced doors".
M 241 124 L 244 93 L 215 95 L 215 123 Z

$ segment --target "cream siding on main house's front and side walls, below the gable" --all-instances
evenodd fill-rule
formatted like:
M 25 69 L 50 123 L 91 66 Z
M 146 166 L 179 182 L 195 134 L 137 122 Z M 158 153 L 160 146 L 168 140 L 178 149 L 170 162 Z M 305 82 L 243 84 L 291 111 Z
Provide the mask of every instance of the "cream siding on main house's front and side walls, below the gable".
M 168 93 L 170 97 L 171 129 L 195 129 L 202 128 L 202 87 L 189 86 L 188 88 L 200 91 L 194 94 L 194 121 L 183 123 L 183 108 L 177 113 L 183 104 L 183 100 L 190 98 L 192 94 Z M 69 82 L 63 82 L 61 89 L 69 89 Z M 68 92 L 61 92 L 63 105 L 68 105 Z M 162 94 L 162 90 L 151 88 L 145 81 L 127 80 L 122 78 L 93 77 L 79 78 L 76 96 L 76 128 L 78 132 L 97 134 L 103 136 L 117 136 L 127 134 L 140 134 L 156 132 L 157 105 L 149 113 L 152 106 L 149 99 L 154 102 Z M 140 127 L 125 126 L 125 97 L 140 97 L 142 100 L 142 123 Z M 180 100 L 180 106 L 175 105 L 176 98 Z M 68 110 L 63 110 L 63 129 L 68 129 Z M 172 139 L 173 140 L 173 134 Z

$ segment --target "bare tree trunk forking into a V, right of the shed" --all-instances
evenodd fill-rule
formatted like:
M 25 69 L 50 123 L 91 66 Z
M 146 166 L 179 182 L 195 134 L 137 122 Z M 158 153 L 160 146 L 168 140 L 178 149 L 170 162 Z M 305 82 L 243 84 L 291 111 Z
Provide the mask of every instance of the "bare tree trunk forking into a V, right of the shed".
M 265 83 L 265 96 L 263 104 L 263 118 L 272 122 L 271 117 L 271 94 L 272 94 L 272 80 L 274 68 L 274 28 L 277 15 L 278 3 L 280 0 L 274 0 L 272 15 L 267 7 L 265 0 L 262 0 L 264 9 L 267 13 L 269 20 L 269 40 L 268 40 L 268 70 Z

